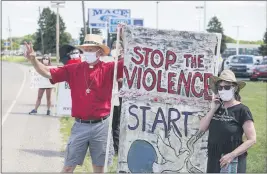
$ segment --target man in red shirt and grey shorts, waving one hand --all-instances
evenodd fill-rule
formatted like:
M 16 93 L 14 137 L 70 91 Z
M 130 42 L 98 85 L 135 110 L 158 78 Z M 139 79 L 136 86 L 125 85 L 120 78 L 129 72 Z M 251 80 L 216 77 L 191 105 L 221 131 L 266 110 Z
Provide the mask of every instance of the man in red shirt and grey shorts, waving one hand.
M 72 98 L 72 117 L 75 123 L 66 147 L 65 163 L 62 172 L 73 172 L 77 165 L 82 165 L 87 149 L 93 163 L 93 171 L 104 172 L 109 114 L 113 87 L 114 62 L 104 63 L 101 56 L 108 55 L 109 47 L 103 45 L 99 35 L 88 34 L 83 50 L 85 61 L 69 64 L 60 68 L 48 69 L 35 58 L 32 45 L 25 43 L 27 57 L 36 71 L 50 79 L 52 84 L 66 81 L 70 85 Z M 118 61 L 118 77 L 122 78 L 123 59 Z M 114 149 L 111 138 L 109 162 Z M 110 164 L 110 163 L 109 163 Z

